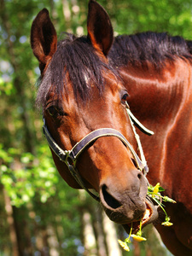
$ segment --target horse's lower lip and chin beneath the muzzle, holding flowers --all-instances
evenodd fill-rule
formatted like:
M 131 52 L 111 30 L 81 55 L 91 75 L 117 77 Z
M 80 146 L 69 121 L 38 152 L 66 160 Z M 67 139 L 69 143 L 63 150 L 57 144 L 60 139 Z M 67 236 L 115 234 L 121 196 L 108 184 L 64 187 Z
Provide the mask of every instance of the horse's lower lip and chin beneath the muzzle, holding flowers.
M 157 206 L 154 206 L 154 204 L 148 199 L 146 199 L 145 203 L 146 211 L 142 215 L 142 228 L 148 224 L 154 223 L 159 217 Z M 126 233 L 129 234 L 132 228 L 131 233 L 136 234 L 137 231 L 140 229 L 140 221 L 141 219 L 136 219 L 133 220 L 131 223 L 123 224 Z

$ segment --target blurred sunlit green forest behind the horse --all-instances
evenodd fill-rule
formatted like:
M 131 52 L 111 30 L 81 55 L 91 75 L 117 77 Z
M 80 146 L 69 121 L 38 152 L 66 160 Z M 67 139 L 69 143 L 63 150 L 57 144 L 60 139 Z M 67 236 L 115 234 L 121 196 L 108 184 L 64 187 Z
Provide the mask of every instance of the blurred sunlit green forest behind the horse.
M 114 33 L 169 32 L 192 39 L 191 0 L 99 0 Z M 148 242 L 122 252 L 96 202 L 71 189 L 55 170 L 35 108 L 38 61 L 32 20 L 43 8 L 62 32 L 86 34 L 88 1 L 0 0 L 0 255 L 170 255 L 151 228 Z

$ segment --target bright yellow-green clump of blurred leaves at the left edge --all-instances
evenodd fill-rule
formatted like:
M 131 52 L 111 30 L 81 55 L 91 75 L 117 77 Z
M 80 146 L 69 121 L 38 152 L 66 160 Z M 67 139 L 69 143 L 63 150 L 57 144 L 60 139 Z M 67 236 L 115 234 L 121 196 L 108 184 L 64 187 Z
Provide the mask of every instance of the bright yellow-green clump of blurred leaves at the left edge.
M 0 160 L 1 183 L 15 207 L 31 201 L 35 193 L 41 202 L 55 195 L 58 177 L 46 146 L 38 148 L 37 158 L 31 153 L 21 153 L 16 148 L 8 148 L 5 152 L 1 147 Z

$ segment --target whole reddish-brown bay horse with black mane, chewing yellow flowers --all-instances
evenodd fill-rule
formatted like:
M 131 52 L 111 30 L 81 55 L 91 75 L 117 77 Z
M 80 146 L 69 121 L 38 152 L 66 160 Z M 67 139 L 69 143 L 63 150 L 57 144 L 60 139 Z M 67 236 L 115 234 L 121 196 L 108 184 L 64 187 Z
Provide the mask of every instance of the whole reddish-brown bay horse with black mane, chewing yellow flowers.
M 142 218 L 144 226 L 158 218 L 146 195 L 148 181 L 160 182 L 177 205 L 166 206 L 173 226 L 155 227 L 174 255 L 191 255 L 191 43 L 154 32 L 113 38 L 108 14 L 94 0 L 87 29 L 87 36 L 67 34 L 57 42 L 47 9 L 32 23 L 31 45 L 41 70 L 37 103 L 55 166 L 128 233 L 130 223 Z M 139 152 L 127 103 L 154 131 L 153 137 L 138 131 Z M 138 156 L 143 151 L 148 181 Z

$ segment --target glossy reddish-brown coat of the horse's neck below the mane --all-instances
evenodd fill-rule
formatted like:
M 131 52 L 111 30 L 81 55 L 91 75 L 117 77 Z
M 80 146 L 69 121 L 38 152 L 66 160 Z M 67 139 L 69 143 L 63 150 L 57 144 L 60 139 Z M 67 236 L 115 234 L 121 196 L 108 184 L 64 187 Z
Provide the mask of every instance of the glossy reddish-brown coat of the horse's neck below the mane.
M 187 61 L 178 60 L 156 76 L 154 70 L 142 75 L 128 67 L 121 75 L 130 94 L 131 111 L 154 131 L 153 137 L 140 133 L 149 182 L 161 182 L 172 195 L 176 175 L 183 176 L 192 164 L 192 68 Z

